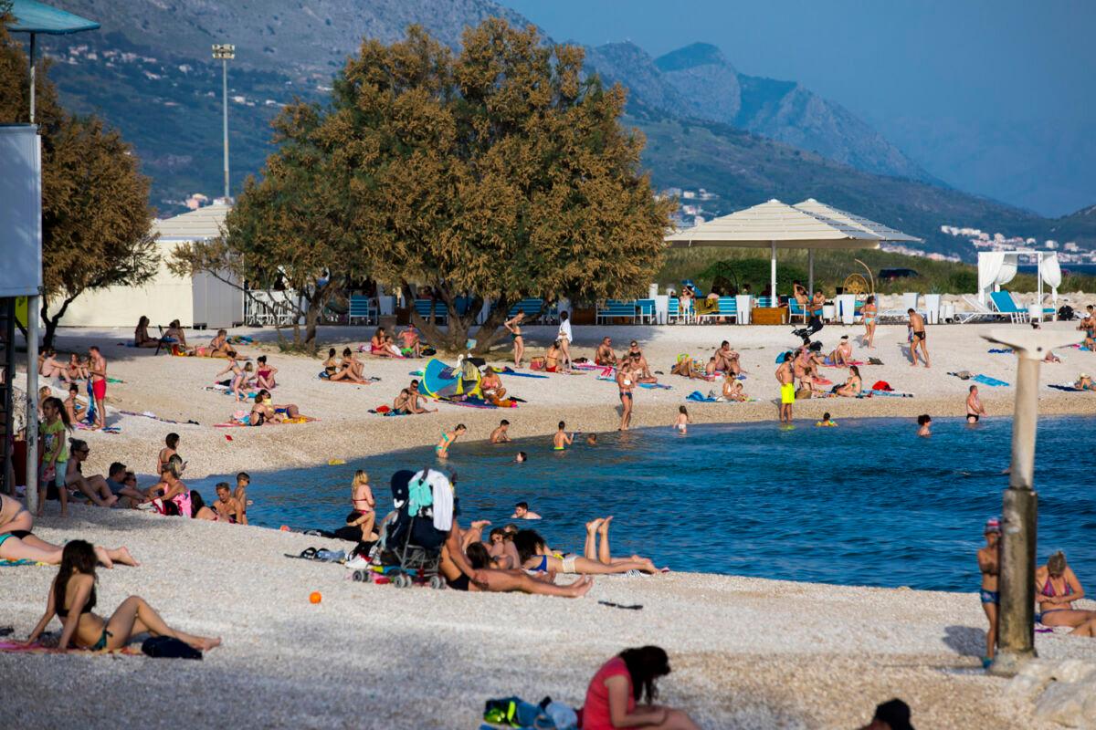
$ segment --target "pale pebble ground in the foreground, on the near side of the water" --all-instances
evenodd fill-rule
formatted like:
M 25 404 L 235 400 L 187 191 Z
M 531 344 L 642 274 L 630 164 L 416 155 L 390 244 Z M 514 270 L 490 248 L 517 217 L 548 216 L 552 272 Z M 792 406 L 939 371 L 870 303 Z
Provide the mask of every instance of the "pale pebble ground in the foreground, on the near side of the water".
M 125 544 L 142 561 L 100 571 L 102 615 L 140 594 L 170 625 L 225 644 L 201 663 L 0 653 L 0 727 L 475 728 L 489 697 L 579 705 L 602 661 L 643 644 L 670 652 L 664 700 L 705 728 L 859 727 L 893 696 L 910 703 L 916 727 L 1051 727 L 978 669 L 974 593 L 698 573 L 600 578 L 578 600 L 398 590 L 283 557 L 329 541 L 72 512 L 36 532 Z M 0 623 L 25 636 L 55 572 L 3 569 Z M 1039 635 L 1037 646 L 1044 658 L 1094 656 L 1083 639 Z

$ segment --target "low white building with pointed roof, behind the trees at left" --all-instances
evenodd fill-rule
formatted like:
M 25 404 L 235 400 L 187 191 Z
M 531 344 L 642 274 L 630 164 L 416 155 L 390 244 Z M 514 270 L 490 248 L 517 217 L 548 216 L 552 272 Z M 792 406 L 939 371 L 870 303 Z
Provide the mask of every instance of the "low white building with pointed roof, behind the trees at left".
M 184 327 L 230 327 L 243 322 L 243 292 L 208 274 L 176 277 L 168 270 L 172 252 L 184 243 L 220 234 L 228 206 L 206 206 L 152 223 L 159 233 L 160 268 L 139 287 L 110 287 L 84 292 L 65 312 L 67 327 L 136 327 L 142 314 L 156 326 L 179 320 Z

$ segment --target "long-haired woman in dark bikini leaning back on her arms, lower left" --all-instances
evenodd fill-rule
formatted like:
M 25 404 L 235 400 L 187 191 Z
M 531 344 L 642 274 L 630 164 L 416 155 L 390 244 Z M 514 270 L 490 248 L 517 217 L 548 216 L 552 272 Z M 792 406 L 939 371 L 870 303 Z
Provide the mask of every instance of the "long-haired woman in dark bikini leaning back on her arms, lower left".
M 104 621 L 92 613 L 95 607 L 96 559 L 94 548 L 82 540 L 73 540 L 65 546 L 61 567 L 49 587 L 46 613 L 31 631 L 27 644 L 33 644 L 42 636 L 55 615 L 62 626 L 60 642 L 57 645 L 62 651 L 70 644 L 92 651 L 121 649 L 134 636 L 145 633 L 171 636 L 199 651 L 213 649 L 220 644 L 219 638 L 195 636 L 171 628 L 145 599 L 136 595 L 123 601 L 110 619 Z

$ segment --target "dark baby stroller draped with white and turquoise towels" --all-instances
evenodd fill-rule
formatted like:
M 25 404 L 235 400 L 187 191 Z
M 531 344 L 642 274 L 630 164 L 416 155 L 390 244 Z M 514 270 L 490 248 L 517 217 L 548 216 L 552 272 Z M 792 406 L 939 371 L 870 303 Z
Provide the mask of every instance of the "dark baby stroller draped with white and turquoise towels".
M 438 568 L 442 545 L 449 530 L 436 525 L 447 523 L 452 526 L 455 513 L 453 484 L 444 474 L 431 468 L 416 474 L 402 470 L 392 475 L 391 489 L 396 509 L 381 523 L 374 564 L 397 588 L 410 588 L 414 583 L 445 588 L 445 578 L 438 573 Z

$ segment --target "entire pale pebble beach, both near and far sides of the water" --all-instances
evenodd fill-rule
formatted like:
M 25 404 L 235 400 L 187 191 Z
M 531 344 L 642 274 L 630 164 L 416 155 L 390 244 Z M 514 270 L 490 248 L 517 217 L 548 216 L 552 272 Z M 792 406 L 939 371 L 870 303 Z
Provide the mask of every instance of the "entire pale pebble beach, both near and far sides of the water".
M 982 335 L 1002 325 L 931 326 L 932 369 L 911 368 L 905 327 L 880 326 L 875 350 L 854 339 L 856 359 L 882 366 L 861 369 L 866 384 L 886 380 L 912 398 L 821 398 L 797 402 L 796 417 L 815 420 L 962 415 L 969 382 L 949 371 L 968 370 L 1013 382 L 1015 358 L 992 355 Z M 1075 325 L 1054 323 L 1048 328 Z M 575 327 L 573 355 L 593 356 L 603 335 L 619 352 L 639 340 L 652 370 L 672 390 L 641 391 L 633 427 L 669 426 L 684 396 L 717 387 L 670 375 L 678 354 L 707 357 L 728 339 L 740 351 L 745 404 L 689 404 L 698 422 L 774 420 L 775 359 L 792 345 L 790 327 L 680 326 Z M 841 334 L 860 327 L 826 327 L 831 349 Z M 541 354 L 555 328 L 529 327 L 530 355 Z M 113 461 L 135 470 L 147 485 L 163 437 L 178 432 L 189 461 L 186 476 L 256 472 L 350 460 L 434 443 L 442 429 L 464 422 L 467 439 L 484 439 L 500 418 L 511 436 L 548 434 L 559 420 L 582 431 L 615 429 L 613 383 L 594 373 L 524 379 L 503 375 L 518 408 L 479 410 L 439 404 L 437 414 L 385 418 L 367 413 L 391 404 L 409 373 L 424 360 L 363 356 L 379 382 L 342 385 L 317 378 L 320 360 L 282 355 L 269 331 L 247 355 L 266 354 L 278 369 L 275 403 L 295 403 L 316 422 L 217 429 L 237 408 L 232 398 L 205 391 L 224 361 L 153 357 L 118 347 L 132 333 L 61 331 L 59 350 L 99 344 L 111 376 L 111 426 L 119 433 L 83 432 L 92 454 L 84 472 L 105 472 Z M 212 334 L 212 333 L 210 333 Z M 372 329 L 324 328 L 320 341 L 341 349 L 367 340 Z M 201 339 L 196 339 L 201 341 Z M 1063 393 L 1047 385 L 1096 369 L 1096 355 L 1059 351 L 1063 362 L 1041 369 L 1040 413 L 1096 414 L 1096 393 Z M 489 362 L 503 364 L 509 351 Z M 844 371 L 827 369 L 834 382 Z M 990 417 L 1012 409 L 1012 387 L 983 387 Z M 433 407 L 434 404 L 431 405 Z M 159 418 L 121 415 L 149 412 Z M 226 439 L 230 436 L 231 440 Z M 454 450 L 459 450 L 458 442 Z M 169 664 L 144 657 L 0 653 L 5 702 L 2 727 L 115 728 L 475 728 L 483 700 L 520 695 L 582 704 L 586 684 L 609 656 L 628 646 L 658 644 L 673 673 L 660 683 L 662 698 L 687 708 L 705 728 L 856 728 L 877 703 L 899 696 L 918 728 L 1057 728 L 1034 714 L 1030 702 L 1006 691 L 1007 681 L 981 670 L 985 618 L 969 593 L 811 584 L 755 578 L 672 572 L 655 577 L 600 577 L 590 593 L 564 600 L 524 594 L 398 590 L 349 580 L 335 565 L 289 559 L 309 546 L 336 541 L 255 526 L 165 520 L 135 510 L 75 506 L 61 520 L 56 507 L 35 532 L 62 542 L 82 537 L 126 545 L 140 568 L 100 570 L 100 611 L 109 615 L 139 594 L 165 621 L 191 633 L 220 636 L 224 646 L 198 662 Z M 52 510 L 52 511 L 50 511 Z M 343 544 L 344 545 L 344 544 Z M 972 556 L 973 559 L 973 556 Z M 56 570 L 5 568 L 2 619 L 22 637 L 41 616 Z M 779 573 L 774 567 L 773 575 Z M 322 601 L 309 602 L 318 591 Z M 641 604 L 637 611 L 598 603 Z M 1092 601 L 1078 607 L 1094 609 Z M 57 627 L 55 623 L 54 627 Z M 1092 661 L 1091 641 L 1038 635 L 1046 659 Z M 152 662 L 152 663 L 149 663 Z M 194 696 L 191 696 L 194 695 Z M 76 698 L 87 698 L 87 702 Z M 167 707 L 171 707 L 168 710 Z

